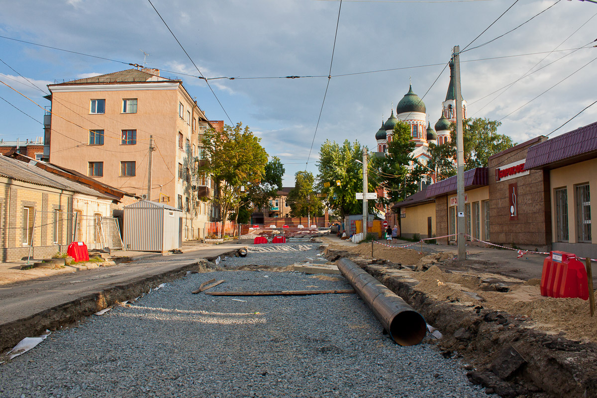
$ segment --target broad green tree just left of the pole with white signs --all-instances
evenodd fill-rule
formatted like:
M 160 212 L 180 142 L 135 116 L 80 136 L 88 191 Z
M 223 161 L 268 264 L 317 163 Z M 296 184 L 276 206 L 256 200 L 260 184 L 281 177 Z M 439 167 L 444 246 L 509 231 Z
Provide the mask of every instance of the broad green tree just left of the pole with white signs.
M 326 140 L 319 149 L 318 190 L 328 206 L 343 219 L 345 215 L 361 214 L 362 202 L 355 198 L 356 192 L 363 190 L 363 172 L 361 162 L 363 148 L 358 141 L 345 140 L 340 144 Z M 340 181 L 340 185 L 336 184 Z M 368 192 L 373 192 L 374 184 L 369 182 Z M 369 201 L 370 210 L 374 201 Z

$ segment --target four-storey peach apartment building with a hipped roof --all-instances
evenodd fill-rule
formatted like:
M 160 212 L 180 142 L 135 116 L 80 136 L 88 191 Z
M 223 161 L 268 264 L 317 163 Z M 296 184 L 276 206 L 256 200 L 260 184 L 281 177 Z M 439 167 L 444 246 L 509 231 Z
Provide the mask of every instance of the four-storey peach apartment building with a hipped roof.
M 182 81 L 158 69 L 128 69 L 48 89 L 45 159 L 177 207 L 183 239 L 205 237 L 218 209 L 198 200 L 213 195 L 214 185 L 194 169 L 202 133 L 212 125 Z

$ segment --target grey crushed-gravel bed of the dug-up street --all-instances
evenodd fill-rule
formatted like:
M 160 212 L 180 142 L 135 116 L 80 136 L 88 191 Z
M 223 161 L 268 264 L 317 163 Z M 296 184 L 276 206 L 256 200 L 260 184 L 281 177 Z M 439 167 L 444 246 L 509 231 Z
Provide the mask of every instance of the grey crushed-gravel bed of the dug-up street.
M 312 247 L 224 263 L 288 265 Z M 211 278 L 226 280 L 213 291 L 350 288 L 294 272 L 190 274 L 0 365 L 0 397 L 487 397 L 435 345 L 381 335 L 355 294 L 190 294 Z

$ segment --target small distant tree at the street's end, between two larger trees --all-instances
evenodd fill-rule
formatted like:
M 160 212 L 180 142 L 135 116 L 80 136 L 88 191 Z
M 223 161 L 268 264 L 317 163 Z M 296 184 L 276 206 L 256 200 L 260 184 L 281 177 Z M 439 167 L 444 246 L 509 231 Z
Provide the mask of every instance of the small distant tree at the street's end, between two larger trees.
M 286 202 L 290 206 L 291 217 L 323 215 L 324 205 L 313 190 L 315 177 L 309 171 L 297 171 L 294 174 L 294 188 L 288 193 Z

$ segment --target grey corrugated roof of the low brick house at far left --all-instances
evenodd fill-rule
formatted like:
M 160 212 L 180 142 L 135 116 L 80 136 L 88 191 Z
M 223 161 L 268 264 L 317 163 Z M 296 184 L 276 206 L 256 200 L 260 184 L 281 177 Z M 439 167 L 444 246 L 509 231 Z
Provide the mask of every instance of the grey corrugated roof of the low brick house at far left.
M 0 175 L 25 183 L 63 189 L 74 193 L 82 193 L 83 195 L 95 196 L 96 198 L 110 200 L 118 199 L 115 196 L 106 195 L 105 193 L 101 193 L 93 188 L 76 183 L 75 181 L 70 181 L 59 175 L 51 174 L 30 163 L 17 161 L 17 159 L 8 158 L 7 156 L 0 156 Z

